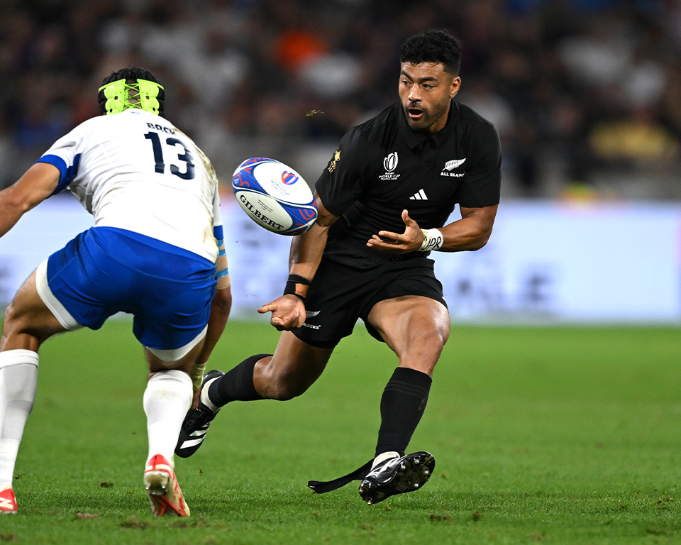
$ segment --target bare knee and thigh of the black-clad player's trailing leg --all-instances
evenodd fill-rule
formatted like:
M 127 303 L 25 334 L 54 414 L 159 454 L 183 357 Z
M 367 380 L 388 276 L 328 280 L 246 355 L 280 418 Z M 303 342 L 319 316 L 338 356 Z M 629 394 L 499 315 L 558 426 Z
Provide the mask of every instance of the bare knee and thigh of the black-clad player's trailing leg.
M 253 382 L 259 392 L 275 399 L 301 395 L 326 368 L 333 348 L 319 348 L 282 331 L 274 355 L 256 365 Z

